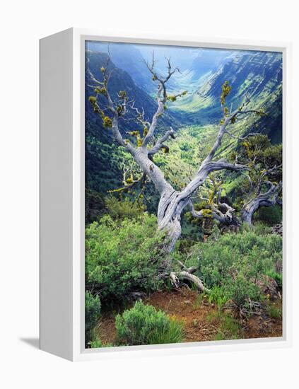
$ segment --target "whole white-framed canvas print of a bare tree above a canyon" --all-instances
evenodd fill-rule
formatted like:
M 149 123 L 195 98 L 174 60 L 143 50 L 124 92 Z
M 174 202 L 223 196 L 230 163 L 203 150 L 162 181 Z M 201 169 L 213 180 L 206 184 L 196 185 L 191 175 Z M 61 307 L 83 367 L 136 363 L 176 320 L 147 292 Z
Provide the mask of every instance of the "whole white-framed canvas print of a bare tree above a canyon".
M 286 44 L 40 44 L 40 347 L 290 342 Z

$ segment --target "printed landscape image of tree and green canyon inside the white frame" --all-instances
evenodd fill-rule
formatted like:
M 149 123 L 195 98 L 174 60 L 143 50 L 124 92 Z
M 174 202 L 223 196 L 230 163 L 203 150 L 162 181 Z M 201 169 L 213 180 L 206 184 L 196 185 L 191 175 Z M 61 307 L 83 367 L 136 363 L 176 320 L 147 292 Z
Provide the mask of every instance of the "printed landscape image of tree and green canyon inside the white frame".
M 86 47 L 86 347 L 281 336 L 281 54 L 147 50 Z

